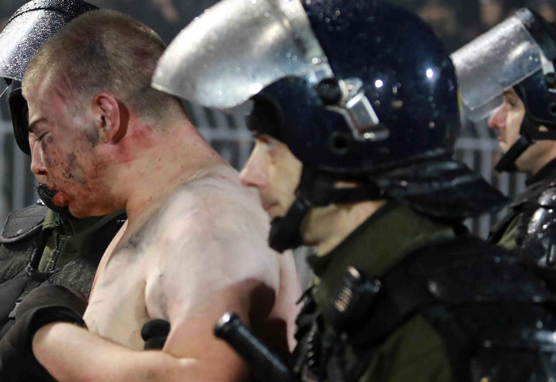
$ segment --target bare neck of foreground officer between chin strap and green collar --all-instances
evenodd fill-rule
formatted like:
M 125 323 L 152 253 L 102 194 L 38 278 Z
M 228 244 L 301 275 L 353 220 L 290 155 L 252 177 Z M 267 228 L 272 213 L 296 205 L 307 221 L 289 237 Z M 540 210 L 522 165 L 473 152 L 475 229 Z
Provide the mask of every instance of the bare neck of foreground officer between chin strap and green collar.
M 320 222 L 312 223 L 315 226 L 312 235 L 316 238 L 317 254 L 325 255 L 336 248 L 385 203 L 385 200 L 369 200 L 332 206 L 334 212 L 319 219 Z

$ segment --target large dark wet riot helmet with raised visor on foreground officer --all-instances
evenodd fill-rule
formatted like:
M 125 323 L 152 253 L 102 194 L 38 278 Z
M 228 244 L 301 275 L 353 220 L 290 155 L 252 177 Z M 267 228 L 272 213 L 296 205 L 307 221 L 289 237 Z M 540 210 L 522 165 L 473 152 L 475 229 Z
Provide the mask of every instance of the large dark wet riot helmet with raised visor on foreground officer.
M 303 163 L 297 199 L 271 246 L 299 244 L 313 206 L 390 198 L 461 219 L 504 199 L 451 159 L 454 67 L 421 19 L 380 0 L 224 0 L 186 27 L 153 86 L 225 109 L 252 105 L 251 129 Z M 338 190 L 337 179 L 361 187 Z

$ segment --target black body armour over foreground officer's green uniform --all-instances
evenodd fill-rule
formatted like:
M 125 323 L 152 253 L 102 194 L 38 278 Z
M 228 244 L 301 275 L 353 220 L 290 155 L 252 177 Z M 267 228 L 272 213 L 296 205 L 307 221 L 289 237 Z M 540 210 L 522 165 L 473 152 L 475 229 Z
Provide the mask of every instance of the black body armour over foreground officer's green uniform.
M 420 313 L 443 338 L 454 381 L 552 380 L 556 301 L 532 269 L 467 235 L 415 250 L 380 277 L 351 268 L 329 305 L 306 293 L 292 368 L 302 381 L 358 381 L 369 349 Z

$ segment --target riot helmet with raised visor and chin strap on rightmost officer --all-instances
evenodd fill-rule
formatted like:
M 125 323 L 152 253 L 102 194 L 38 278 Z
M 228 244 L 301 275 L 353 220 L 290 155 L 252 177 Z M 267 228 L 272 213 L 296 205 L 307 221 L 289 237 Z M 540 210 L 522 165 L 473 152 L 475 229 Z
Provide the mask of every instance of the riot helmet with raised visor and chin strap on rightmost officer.
M 525 105 L 520 138 L 496 169 L 514 171 L 515 160 L 539 139 L 556 139 L 556 26 L 528 8 L 451 55 L 460 80 L 466 117 L 488 118 L 514 88 Z M 548 131 L 539 131 L 540 125 Z

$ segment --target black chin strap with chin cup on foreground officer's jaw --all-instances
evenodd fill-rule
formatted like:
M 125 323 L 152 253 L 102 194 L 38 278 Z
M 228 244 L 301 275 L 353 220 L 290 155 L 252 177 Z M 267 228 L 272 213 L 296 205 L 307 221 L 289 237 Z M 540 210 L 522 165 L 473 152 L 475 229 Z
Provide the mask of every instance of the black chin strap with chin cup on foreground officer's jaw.
M 337 177 L 304 165 L 296 198 L 283 217 L 272 219 L 269 245 L 277 252 L 297 248 L 302 244 L 301 222 L 313 207 L 332 203 L 356 203 L 384 199 L 384 192 L 373 184 L 351 188 L 335 188 Z

